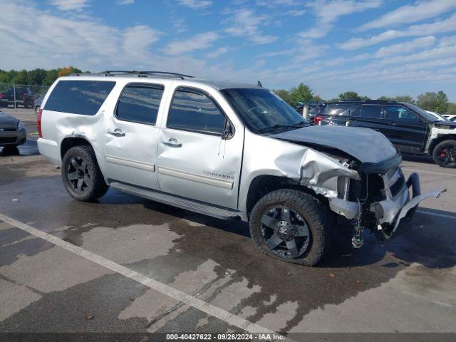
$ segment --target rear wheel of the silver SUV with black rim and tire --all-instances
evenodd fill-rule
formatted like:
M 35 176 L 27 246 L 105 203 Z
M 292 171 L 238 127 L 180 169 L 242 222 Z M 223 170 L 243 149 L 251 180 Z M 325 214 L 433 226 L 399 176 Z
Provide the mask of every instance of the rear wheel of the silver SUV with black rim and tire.
M 62 179 L 66 191 L 78 201 L 91 202 L 108 191 L 95 152 L 90 146 L 71 147 L 65 153 Z

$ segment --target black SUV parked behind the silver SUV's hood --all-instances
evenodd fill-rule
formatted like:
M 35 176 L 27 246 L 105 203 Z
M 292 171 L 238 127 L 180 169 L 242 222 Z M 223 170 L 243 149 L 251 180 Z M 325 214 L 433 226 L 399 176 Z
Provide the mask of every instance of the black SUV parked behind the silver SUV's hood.
M 405 154 L 431 155 L 437 165 L 456 167 L 456 123 L 437 120 L 410 103 L 380 100 L 326 103 L 318 125 L 371 128 Z

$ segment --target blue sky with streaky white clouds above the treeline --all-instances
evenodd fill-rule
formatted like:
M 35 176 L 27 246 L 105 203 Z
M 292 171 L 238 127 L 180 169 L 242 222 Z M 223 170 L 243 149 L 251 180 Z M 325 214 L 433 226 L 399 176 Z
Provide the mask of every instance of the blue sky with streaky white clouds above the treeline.
M 323 98 L 443 90 L 456 0 L 0 0 L 0 68 L 161 70 Z

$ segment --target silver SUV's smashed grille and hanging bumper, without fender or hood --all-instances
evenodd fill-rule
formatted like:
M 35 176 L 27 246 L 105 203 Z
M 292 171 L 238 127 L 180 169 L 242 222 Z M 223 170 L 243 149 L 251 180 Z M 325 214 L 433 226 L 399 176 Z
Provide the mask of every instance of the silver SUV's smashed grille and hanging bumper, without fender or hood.
M 362 246 L 364 228 L 375 232 L 382 242 L 408 231 L 418 204 L 445 191 L 421 194 L 418 174 L 405 180 L 400 162 L 400 155 L 396 155 L 380 163 L 354 163 L 358 179 L 338 177 L 337 197 L 328 198 L 329 206 L 351 220 L 355 229 L 353 247 Z

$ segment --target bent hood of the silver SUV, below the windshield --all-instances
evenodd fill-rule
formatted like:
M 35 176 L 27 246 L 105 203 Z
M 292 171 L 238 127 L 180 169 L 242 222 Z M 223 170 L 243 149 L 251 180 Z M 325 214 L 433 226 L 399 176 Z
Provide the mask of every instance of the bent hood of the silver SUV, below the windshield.
M 378 163 L 397 155 L 390 140 L 382 133 L 370 128 L 336 125 L 307 126 L 274 134 L 271 135 L 271 138 L 303 143 L 304 145 L 308 143 L 336 148 L 361 162 Z

